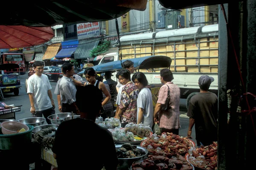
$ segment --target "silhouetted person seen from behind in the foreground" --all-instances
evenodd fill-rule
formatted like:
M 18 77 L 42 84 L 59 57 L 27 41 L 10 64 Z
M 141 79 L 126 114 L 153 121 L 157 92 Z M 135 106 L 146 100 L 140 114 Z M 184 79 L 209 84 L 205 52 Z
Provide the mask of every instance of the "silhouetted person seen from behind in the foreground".
M 79 96 L 80 94 L 80 96 Z M 86 94 L 84 97 L 81 94 Z M 80 117 L 61 122 L 52 147 L 58 170 L 116 170 L 118 159 L 111 133 L 95 124 L 102 107 L 102 92 L 94 85 L 79 86 Z

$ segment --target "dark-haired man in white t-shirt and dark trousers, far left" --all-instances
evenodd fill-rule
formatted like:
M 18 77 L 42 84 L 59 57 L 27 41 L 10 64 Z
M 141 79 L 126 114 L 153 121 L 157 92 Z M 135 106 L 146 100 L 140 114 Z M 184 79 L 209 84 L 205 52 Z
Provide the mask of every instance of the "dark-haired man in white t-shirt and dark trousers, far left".
M 35 117 L 42 117 L 46 119 L 48 124 L 51 124 L 48 116 L 55 114 L 55 104 L 52 99 L 51 85 L 47 75 L 44 72 L 44 62 L 35 61 L 33 64 L 35 74 L 28 79 L 27 93 L 31 109 L 30 112 L 35 114 Z

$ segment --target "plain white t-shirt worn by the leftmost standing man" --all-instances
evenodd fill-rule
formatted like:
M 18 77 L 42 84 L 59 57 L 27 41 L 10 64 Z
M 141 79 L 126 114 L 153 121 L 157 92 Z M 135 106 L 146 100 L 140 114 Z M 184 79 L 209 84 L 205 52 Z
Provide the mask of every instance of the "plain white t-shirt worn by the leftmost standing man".
M 47 75 L 37 76 L 33 74 L 28 79 L 27 93 L 33 94 L 35 111 L 44 111 L 52 108 L 48 90 L 52 89 Z

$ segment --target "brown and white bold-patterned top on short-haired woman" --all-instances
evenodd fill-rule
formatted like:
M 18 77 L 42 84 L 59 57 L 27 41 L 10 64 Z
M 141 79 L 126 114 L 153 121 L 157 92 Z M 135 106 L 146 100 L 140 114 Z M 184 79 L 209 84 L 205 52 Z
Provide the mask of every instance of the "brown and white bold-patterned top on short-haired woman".
M 128 82 L 122 86 L 121 101 L 119 104 L 120 109 L 125 111 L 122 114 L 122 123 L 133 122 L 137 124 L 137 98 L 139 89 L 133 82 Z

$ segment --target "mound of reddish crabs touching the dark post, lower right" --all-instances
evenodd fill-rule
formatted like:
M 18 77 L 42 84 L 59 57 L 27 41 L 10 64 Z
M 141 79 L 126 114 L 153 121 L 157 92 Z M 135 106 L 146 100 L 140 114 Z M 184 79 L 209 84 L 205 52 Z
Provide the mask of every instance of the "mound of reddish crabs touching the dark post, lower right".
M 217 142 L 199 148 L 192 147 L 185 157 L 195 167 L 217 170 Z

